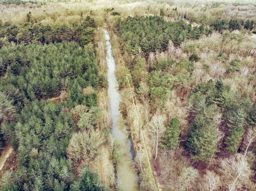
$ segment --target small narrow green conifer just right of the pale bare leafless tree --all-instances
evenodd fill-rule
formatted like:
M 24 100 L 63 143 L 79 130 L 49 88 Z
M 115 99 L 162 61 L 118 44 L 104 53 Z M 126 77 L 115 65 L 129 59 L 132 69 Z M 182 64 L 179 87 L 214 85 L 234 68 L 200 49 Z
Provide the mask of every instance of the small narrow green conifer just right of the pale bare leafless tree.
M 178 147 L 180 135 L 180 125 L 177 118 L 173 118 L 167 127 L 166 133 L 163 138 L 163 148 L 175 149 Z

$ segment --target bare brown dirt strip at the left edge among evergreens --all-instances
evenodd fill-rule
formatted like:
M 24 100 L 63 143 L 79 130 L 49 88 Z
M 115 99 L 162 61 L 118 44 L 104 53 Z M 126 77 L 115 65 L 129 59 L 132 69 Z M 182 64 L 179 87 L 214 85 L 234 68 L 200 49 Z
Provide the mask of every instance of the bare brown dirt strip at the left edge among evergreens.
M 10 145 L 7 145 L 4 150 L 2 151 L 1 157 L 0 157 L 0 177 L 2 176 L 3 171 L 7 169 L 11 169 L 12 162 L 15 162 L 15 154 L 12 154 L 13 148 Z M 12 156 L 12 160 L 9 160 L 9 156 Z M 7 162 L 7 163 L 5 163 Z

